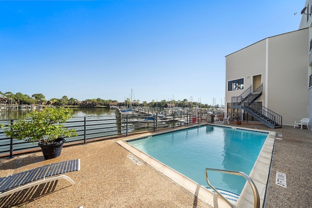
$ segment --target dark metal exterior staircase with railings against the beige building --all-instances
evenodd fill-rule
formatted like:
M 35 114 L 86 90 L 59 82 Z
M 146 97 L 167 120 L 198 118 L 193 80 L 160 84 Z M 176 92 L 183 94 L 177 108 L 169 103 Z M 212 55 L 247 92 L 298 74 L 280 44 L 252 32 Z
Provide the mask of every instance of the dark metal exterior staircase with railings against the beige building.
M 255 102 L 261 94 L 262 85 L 258 87 L 254 92 L 252 92 L 252 87 L 250 86 L 244 93 L 242 93 L 238 97 L 232 97 L 231 108 L 244 110 L 271 129 L 281 128 L 282 116 Z

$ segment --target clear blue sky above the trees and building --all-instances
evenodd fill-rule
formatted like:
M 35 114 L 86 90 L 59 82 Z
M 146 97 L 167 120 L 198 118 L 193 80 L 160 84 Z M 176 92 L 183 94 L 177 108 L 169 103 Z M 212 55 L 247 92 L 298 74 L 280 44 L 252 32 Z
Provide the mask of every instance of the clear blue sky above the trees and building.
M 0 91 L 224 104 L 225 56 L 299 28 L 305 0 L 0 1 Z

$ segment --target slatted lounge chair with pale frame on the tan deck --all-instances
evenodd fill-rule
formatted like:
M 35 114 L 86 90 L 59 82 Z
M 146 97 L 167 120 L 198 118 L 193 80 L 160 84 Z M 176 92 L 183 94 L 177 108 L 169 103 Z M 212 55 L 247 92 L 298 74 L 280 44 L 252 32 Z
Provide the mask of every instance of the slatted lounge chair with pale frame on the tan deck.
M 75 182 L 70 177 L 64 175 L 64 173 L 77 170 L 80 170 L 80 159 L 53 163 L 2 177 L 0 178 L 0 198 L 29 187 L 59 179 L 66 179 L 71 185 L 74 185 Z

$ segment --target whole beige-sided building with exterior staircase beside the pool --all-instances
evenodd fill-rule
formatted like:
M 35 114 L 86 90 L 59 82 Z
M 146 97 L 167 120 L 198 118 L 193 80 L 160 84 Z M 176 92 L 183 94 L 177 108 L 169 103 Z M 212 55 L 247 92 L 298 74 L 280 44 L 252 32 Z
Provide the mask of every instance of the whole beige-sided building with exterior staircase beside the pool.
M 311 1 L 306 1 L 309 14 Z M 311 15 L 302 15 L 299 30 L 226 56 L 225 116 L 263 121 L 271 128 L 305 117 L 312 121 L 311 39 Z

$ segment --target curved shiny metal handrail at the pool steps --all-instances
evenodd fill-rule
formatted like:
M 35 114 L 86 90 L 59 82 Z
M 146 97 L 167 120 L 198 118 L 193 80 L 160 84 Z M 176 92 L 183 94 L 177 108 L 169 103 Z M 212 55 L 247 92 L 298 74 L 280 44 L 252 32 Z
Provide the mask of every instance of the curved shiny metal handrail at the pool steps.
M 227 204 L 229 204 L 232 208 L 235 208 L 235 206 L 229 202 L 229 200 L 227 200 L 224 196 L 222 196 L 222 194 L 219 193 L 219 191 L 217 191 L 217 189 L 215 189 L 215 187 L 213 185 L 210 184 L 209 180 L 208 180 L 208 170 L 212 170 L 212 171 L 217 171 L 217 172 L 222 172 L 222 173 L 228 173 L 228 174 L 233 174 L 233 175 L 240 175 L 246 178 L 246 180 L 249 182 L 249 184 L 251 185 L 253 192 L 254 192 L 254 208 L 260 208 L 260 197 L 259 197 L 259 193 L 257 188 L 254 185 L 254 181 L 244 172 L 241 171 L 234 171 L 234 170 L 220 170 L 220 169 L 213 169 L 213 168 L 206 168 L 205 169 L 205 177 L 206 177 L 206 182 L 207 184 L 214 189 L 214 191 L 216 192 L 216 194 L 218 194 L 219 197 L 221 197 L 224 201 L 226 201 Z

